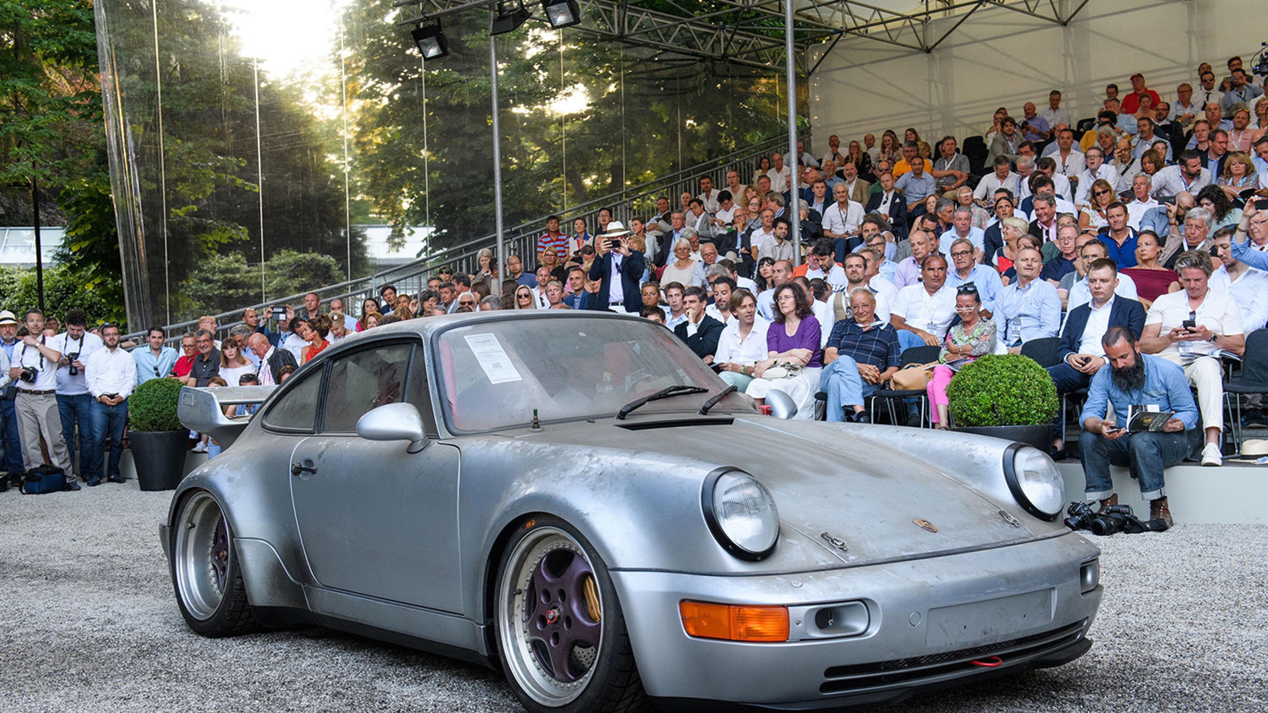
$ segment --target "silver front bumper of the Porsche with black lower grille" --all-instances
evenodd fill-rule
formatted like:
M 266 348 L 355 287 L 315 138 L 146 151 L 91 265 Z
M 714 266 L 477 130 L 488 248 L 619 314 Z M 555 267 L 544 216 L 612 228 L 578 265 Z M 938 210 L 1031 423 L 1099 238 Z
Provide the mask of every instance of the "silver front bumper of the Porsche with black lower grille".
M 801 575 L 614 571 L 639 674 L 662 705 L 701 702 L 814 709 L 902 700 L 921 690 L 1084 653 L 1101 604 L 1079 567 L 1099 551 L 1075 534 L 954 556 Z M 694 638 L 683 599 L 732 604 L 864 601 L 850 638 L 742 643 Z M 792 622 L 794 631 L 798 623 Z M 994 658 L 998 657 L 998 658 Z M 974 662 L 976 661 L 976 664 Z

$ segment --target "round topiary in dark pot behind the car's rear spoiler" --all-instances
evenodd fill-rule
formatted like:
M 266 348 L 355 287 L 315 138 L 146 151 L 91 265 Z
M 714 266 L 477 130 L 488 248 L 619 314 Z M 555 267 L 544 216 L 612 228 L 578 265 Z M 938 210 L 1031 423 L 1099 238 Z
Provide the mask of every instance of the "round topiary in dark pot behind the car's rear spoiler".
M 181 383 L 150 379 L 128 398 L 128 443 L 141 490 L 174 490 L 185 476 L 189 429 L 176 417 Z

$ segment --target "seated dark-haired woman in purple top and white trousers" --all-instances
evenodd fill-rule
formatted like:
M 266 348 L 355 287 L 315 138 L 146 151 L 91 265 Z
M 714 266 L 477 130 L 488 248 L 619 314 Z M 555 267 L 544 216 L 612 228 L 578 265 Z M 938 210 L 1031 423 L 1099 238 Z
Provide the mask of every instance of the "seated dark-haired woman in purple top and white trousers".
M 766 395 L 781 391 L 798 405 L 796 419 L 814 417 L 814 395 L 819 387 L 819 370 L 823 368 L 823 348 L 819 321 L 814 318 L 814 306 L 801 285 L 785 282 L 775 288 L 773 324 L 766 332 L 766 359 L 753 367 L 753 381 L 744 393 L 763 405 Z M 787 369 L 785 364 L 799 367 Z M 767 370 L 779 365 L 784 374 L 767 376 Z M 776 378 L 777 377 L 777 378 Z

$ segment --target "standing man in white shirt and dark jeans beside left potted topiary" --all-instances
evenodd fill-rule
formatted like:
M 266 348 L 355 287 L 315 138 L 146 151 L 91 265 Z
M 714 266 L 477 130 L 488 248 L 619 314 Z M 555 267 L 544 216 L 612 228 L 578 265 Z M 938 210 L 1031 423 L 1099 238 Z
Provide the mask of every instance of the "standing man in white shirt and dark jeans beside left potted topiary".
M 87 358 L 87 389 L 93 395 L 93 440 L 85 444 L 85 454 L 94 461 L 87 485 L 101 482 L 101 474 L 112 483 L 122 483 L 119 457 L 123 455 L 123 429 L 128 422 L 128 397 L 137 387 L 137 367 L 132 356 L 119 349 L 118 325 L 101 325 L 103 348 Z M 237 345 L 230 345 L 237 350 Z M 110 459 L 101 467 L 101 445 L 109 443 Z M 85 455 L 81 455 L 84 458 Z

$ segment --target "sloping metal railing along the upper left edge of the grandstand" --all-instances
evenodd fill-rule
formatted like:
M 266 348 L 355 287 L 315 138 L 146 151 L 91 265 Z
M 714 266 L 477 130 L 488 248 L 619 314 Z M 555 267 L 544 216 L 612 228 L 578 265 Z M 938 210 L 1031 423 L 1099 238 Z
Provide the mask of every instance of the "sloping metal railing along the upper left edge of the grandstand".
M 806 131 L 803 134 L 803 138 L 809 142 L 810 132 Z M 656 200 L 662 195 L 668 198 L 670 204 L 673 207 L 677 206 L 678 197 L 682 193 L 691 193 L 695 195 L 700 186 L 700 179 L 702 178 L 713 178 L 714 185 L 721 189 L 727 185 L 727 173 L 737 170 L 739 171 L 741 183 L 744 183 L 752 178 L 752 171 L 756 167 L 756 160 L 758 157 L 786 148 L 787 137 L 776 136 L 766 138 L 758 143 L 747 146 L 741 151 L 732 151 L 724 156 L 710 159 L 701 164 L 696 164 L 695 166 L 689 166 L 680 171 L 659 176 L 654 180 L 572 206 L 567 211 L 554 214 L 558 214 L 564 219 L 564 226 L 571 226 L 571 222 L 577 218 L 586 218 L 586 225 L 591 226 L 596 225 L 595 218 L 597 217 L 598 211 L 607 208 L 612 212 L 612 219 L 629 225 L 629 219 L 631 217 L 654 214 Z M 742 200 L 742 197 L 735 197 L 735 200 L 738 203 Z M 547 217 L 548 216 L 539 216 L 508 228 L 503 228 L 502 232 L 506 244 L 506 254 L 533 254 L 536 247 L 538 237 L 545 230 Z M 317 296 L 321 297 L 322 303 L 328 303 L 331 299 L 344 301 L 346 313 L 356 317 L 361 313 L 361 303 L 368 298 L 377 298 L 379 289 L 385 285 L 396 287 L 397 293 L 417 294 L 426 289 L 427 280 L 441 266 L 449 266 L 454 271 L 474 273 L 477 269 L 477 255 L 479 251 L 486 247 L 492 249 L 496 245 L 497 235 L 488 233 L 459 245 L 437 250 L 403 265 L 380 270 L 373 275 L 318 287 L 308 292 L 288 294 L 269 302 L 247 304 L 230 312 L 212 315 L 216 317 L 217 335 L 224 336 L 228 334 L 231 327 L 242 324 L 242 312 L 245 310 L 256 310 L 260 315 L 261 322 L 264 322 L 268 317 L 264 312 L 265 308 L 274 304 L 293 304 L 298 307 L 303 302 L 304 296 L 309 292 L 317 293 Z M 184 334 L 197 326 L 198 320 L 167 325 L 164 327 L 164 331 L 166 332 L 165 341 L 167 344 L 179 343 Z M 124 335 L 123 339 L 131 339 L 139 344 L 146 339 L 146 332 L 134 331 Z

